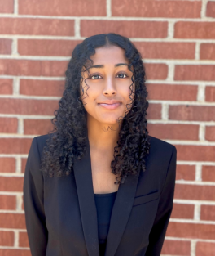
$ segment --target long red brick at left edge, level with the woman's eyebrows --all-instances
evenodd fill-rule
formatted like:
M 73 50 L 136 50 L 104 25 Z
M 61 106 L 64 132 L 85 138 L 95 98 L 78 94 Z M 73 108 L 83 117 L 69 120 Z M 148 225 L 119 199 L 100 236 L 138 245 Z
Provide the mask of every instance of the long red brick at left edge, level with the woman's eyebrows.
M 31 76 L 65 76 L 68 61 L 0 59 L 0 74 Z

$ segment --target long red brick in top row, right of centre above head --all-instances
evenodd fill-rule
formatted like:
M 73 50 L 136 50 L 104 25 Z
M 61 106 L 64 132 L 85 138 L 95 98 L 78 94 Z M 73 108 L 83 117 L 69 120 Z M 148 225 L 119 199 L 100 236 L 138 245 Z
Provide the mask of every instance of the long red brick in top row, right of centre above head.
M 200 18 L 200 1 L 114 0 L 112 16 Z

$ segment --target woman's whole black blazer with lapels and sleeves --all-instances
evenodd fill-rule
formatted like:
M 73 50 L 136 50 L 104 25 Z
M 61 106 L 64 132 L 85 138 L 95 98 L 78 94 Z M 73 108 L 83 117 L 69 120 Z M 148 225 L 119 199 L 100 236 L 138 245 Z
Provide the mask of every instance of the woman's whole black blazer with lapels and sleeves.
M 33 256 L 99 256 L 97 213 L 87 154 L 68 177 L 39 171 L 48 135 L 34 137 L 24 173 L 24 210 Z M 176 147 L 151 137 L 146 172 L 129 175 L 112 209 L 105 256 L 158 256 L 173 208 Z

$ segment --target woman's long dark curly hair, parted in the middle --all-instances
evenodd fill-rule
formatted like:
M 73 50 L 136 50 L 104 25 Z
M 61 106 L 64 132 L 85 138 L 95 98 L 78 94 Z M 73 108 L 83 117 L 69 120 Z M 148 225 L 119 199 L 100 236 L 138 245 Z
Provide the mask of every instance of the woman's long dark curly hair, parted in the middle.
M 87 123 L 86 110 L 81 101 L 80 84 L 83 67 L 88 71 L 97 47 L 114 45 L 125 50 L 129 61 L 129 70 L 133 72 L 129 87 L 129 104 L 125 116 L 121 117 L 121 128 L 117 146 L 114 147 L 112 173 L 117 175 L 115 184 L 124 183 L 130 174 L 138 173 L 138 168 L 146 170 L 145 159 L 150 150 L 150 137 L 147 131 L 147 88 L 142 56 L 129 38 L 120 34 L 97 34 L 77 44 L 66 70 L 63 97 L 59 100 L 59 109 L 51 119 L 54 129 L 49 132 L 42 154 L 42 171 L 53 177 L 69 175 L 72 172 L 74 157 L 81 159 L 86 154 Z M 133 66 L 134 70 L 131 70 Z M 86 82 L 86 81 L 85 81 Z M 134 90 L 135 83 L 135 90 Z M 87 84 L 86 84 L 87 86 Z M 81 88 L 83 91 L 83 88 Z M 87 90 L 86 90 L 87 91 Z M 87 95 L 87 92 L 86 92 Z

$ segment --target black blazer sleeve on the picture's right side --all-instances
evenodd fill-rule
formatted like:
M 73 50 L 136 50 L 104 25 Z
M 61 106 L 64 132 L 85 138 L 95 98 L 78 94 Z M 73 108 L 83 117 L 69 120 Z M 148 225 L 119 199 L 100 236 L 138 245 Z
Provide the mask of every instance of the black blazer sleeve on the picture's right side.
M 173 209 L 173 195 L 176 177 L 177 150 L 173 146 L 171 159 L 169 161 L 168 173 L 165 185 L 160 193 L 160 201 L 156 213 L 155 222 L 149 235 L 149 245 L 146 256 L 160 256 L 160 252 L 165 240 L 165 233 L 168 227 L 169 218 Z

